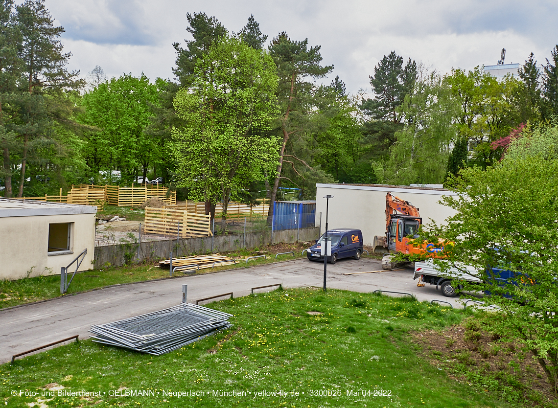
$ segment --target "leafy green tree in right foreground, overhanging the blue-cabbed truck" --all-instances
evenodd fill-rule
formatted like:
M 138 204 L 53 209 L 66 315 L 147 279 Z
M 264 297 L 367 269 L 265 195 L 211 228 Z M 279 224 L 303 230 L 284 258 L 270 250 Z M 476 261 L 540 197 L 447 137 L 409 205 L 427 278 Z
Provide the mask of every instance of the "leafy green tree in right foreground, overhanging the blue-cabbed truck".
M 485 171 L 464 168 L 459 175 L 457 195 L 442 198 L 456 213 L 445 226 L 431 227 L 427 239 L 453 242 L 446 245 L 450 264 L 474 266 L 483 282 L 465 290 L 485 290 L 486 303 L 499 308 L 488 314 L 487 331 L 530 349 L 556 392 L 558 160 L 505 157 Z M 511 278 L 498 280 L 492 268 L 510 271 Z

